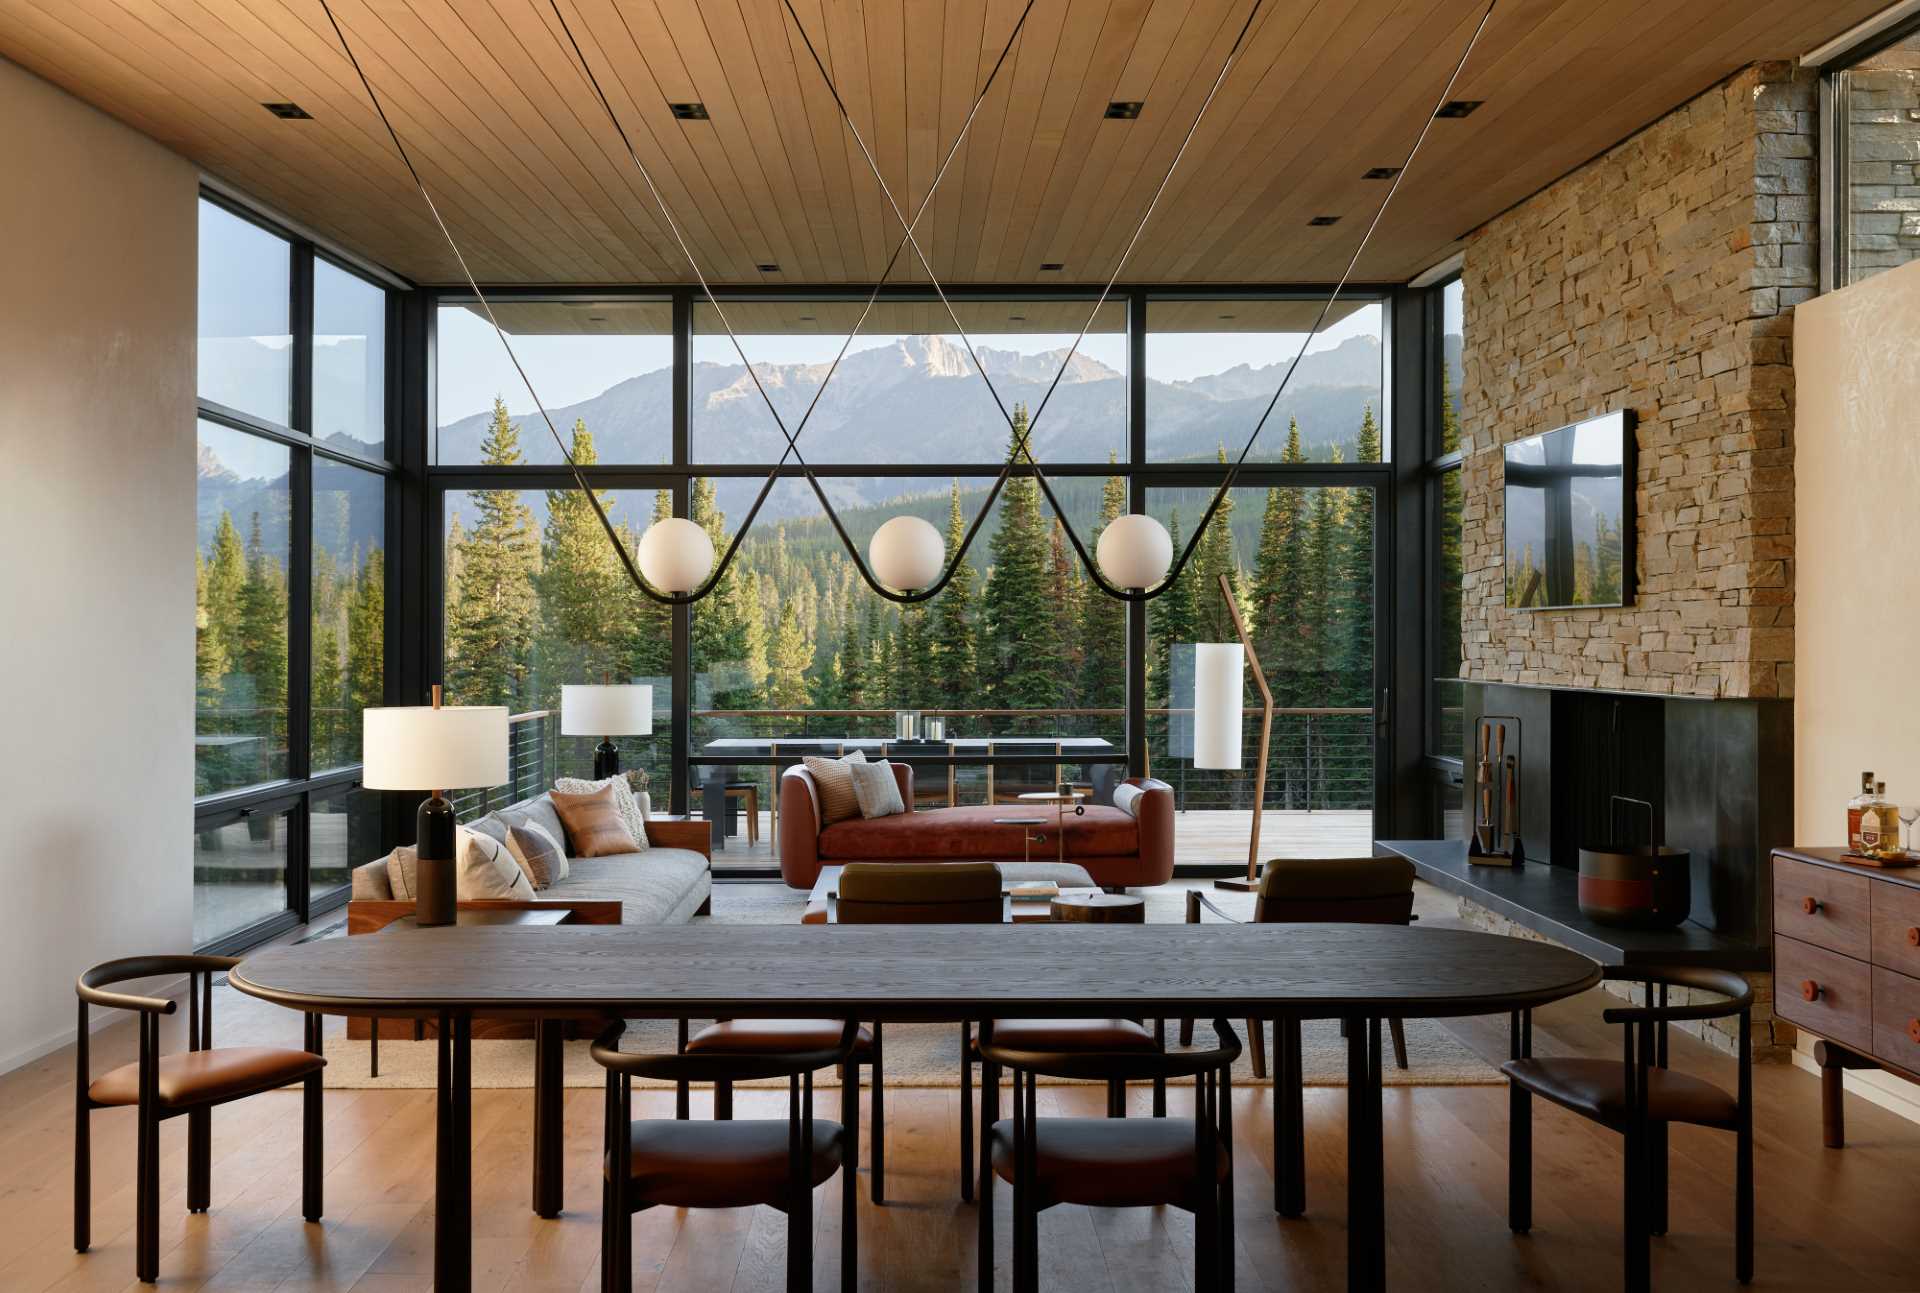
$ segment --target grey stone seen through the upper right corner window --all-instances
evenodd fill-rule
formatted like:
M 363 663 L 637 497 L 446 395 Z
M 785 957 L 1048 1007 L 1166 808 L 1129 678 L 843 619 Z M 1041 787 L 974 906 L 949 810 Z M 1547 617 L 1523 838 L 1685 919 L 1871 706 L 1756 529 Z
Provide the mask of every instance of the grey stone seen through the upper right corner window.
M 1847 73 L 1847 279 L 1920 259 L 1920 48 L 1882 50 Z

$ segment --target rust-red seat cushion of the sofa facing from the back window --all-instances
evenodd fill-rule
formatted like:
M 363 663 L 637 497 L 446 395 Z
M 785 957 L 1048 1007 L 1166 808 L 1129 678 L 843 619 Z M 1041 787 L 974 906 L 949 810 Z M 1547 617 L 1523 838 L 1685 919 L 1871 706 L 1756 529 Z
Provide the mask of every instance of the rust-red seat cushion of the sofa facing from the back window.
M 1044 817 L 1044 843 L 1023 843 L 1025 826 L 1002 826 L 996 817 Z M 970 803 L 931 813 L 852 818 L 820 832 L 826 861 L 1008 861 L 1031 853 L 1058 855 L 1052 813 L 1021 813 L 1010 805 Z M 1066 813 L 1068 857 L 1119 857 L 1139 851 L 1140 828 L 1119 809 L 1092 805 L 1085 815 Z

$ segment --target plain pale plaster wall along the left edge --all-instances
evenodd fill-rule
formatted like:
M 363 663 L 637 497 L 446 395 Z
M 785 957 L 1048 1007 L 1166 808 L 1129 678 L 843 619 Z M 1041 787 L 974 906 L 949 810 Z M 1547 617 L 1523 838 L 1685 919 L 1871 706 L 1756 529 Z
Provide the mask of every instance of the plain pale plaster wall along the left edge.
M 192 947 L 192 165 L 0 60 L 0 1072 Z

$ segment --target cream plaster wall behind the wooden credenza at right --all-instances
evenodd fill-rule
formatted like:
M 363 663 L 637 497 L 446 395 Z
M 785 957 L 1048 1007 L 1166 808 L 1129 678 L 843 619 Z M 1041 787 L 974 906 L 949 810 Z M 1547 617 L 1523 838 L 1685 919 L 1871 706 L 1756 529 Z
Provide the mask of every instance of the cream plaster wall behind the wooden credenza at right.
M 1793 315 L 1793 840 L 1845 843 L 1872 768 L 1920 801 L 1920 263 L 1805 302 Z M 1849 1089 L 1920 1114 L 1916 1087 Z

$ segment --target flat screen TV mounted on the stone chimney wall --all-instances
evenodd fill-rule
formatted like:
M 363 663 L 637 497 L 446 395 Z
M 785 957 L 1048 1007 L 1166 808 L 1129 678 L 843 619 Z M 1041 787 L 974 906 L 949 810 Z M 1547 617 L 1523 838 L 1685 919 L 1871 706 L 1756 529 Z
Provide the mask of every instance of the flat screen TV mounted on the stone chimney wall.
M 1507 446 L 1507 605 L 1634 599 L 1634 415 L 1601 413 Z

